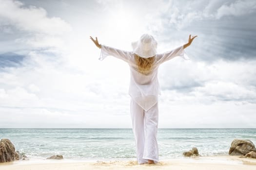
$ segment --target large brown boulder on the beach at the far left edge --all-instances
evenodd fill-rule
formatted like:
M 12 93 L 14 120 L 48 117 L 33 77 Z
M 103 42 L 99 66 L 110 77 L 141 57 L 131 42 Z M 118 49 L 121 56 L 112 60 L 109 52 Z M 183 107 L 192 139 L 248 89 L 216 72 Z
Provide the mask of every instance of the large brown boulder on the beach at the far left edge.
M 14 160 L 15 147 L 9 139 L 0 140 L 0 163 Z

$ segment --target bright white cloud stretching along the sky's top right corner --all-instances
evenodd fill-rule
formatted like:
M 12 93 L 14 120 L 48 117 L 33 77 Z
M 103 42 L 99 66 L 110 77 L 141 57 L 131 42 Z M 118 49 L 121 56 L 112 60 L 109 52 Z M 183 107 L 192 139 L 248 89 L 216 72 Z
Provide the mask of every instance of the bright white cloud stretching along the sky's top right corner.
M 236 17 L 249 15 L 256 12 L 256 1 L 254 0 L 237 0 L 235 2 L 231 2 L 232 3 L 230 3 L 229 0 L 165 2 L 164 10 L 161 8 L 157 9 L 157 14 L 154 15 L 155 22 L 160 24 L 163 23 L 163 27 L 171 26 L 180 30 L 189 27 L 192 22 L 215 20 L 224 16 Z M 166 19 L 168 22 L 166 22 Z

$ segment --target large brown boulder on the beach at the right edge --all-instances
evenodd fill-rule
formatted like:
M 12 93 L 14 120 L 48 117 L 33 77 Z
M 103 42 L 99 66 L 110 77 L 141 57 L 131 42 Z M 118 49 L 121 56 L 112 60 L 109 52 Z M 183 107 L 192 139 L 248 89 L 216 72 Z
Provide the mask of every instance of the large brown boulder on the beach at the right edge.
M 251 140 L 234 139 L 229 149 L 230 155 L 245 155 L 251 151 L 256 151 Z

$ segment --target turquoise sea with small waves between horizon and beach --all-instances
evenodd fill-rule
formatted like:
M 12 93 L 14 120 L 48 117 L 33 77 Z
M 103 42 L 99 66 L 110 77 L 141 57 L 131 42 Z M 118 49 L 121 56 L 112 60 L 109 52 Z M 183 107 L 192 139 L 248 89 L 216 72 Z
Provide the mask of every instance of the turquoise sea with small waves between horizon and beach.
M 30 159 L 136 158 L 132 129 L 0 129 L 0 138 Z M 228 155 L 234 138 L 256 144 L 256 129 L 158 129 L 159 158 L 181 158 L 192 147 L 200 155 Z

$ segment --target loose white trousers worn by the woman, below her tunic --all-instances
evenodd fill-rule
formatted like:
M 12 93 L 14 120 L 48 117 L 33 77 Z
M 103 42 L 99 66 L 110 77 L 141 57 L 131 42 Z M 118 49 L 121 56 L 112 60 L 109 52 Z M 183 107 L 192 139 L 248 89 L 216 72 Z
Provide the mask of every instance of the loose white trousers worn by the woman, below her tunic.
M 148 159 L 158 162 L 158 103 L 144 111 L 131 99 L 131 118 L 138 164 L 143 164 Z

